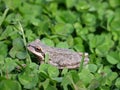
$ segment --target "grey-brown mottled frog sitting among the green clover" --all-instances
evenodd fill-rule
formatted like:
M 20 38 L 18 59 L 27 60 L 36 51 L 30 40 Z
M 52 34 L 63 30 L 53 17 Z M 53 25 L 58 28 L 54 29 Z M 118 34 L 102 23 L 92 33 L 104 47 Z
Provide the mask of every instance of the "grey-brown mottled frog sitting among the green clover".
M 76 69 L 80 67 L 84 55 L 83 65 L 89 62 L 88 53 L 76 52 L 71 49 L 57 48 L 45 45 L 40 39 L 30 42 L 27 45 L 29 52 L 38 57 L 40 64 L 45 63 L 45 56 L 48 55 L 48 64 L 56 66 L 59 69 Z

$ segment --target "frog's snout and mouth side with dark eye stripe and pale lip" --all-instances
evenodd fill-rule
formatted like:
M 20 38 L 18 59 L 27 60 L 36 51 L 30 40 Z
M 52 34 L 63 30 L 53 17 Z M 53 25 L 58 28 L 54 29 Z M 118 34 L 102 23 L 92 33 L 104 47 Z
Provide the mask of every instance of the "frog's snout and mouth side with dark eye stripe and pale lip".
M 42 60 L 44 60 L 44 53 L 42 52 L 42 49 L 39 47 L 35 47 L 32 45 L 28 45 L 27 49 L 32 52 L 33 54 L 35 54 L 36 56 L 38 56 L 39 58 L 41 58 Z

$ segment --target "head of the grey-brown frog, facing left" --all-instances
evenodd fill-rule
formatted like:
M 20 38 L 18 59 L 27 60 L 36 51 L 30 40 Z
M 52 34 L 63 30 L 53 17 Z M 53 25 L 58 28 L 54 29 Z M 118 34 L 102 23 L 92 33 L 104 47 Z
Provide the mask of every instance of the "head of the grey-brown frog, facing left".
M 27 49 L 38 56 L 41 60 L 44 60 L 45 53 L 42 50 L 40 40 L 37 39 L 27 45 Z

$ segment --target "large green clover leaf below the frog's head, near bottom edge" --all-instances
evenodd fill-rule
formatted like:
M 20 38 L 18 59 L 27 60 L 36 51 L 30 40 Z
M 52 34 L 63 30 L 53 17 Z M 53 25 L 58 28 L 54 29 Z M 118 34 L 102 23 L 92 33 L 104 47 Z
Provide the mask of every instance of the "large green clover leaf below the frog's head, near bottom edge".
M 18 75 L 18 80 L 26 89 L 34 88 L 38 83 L 37 70 L 34 70 L 34 67 L 31 66 L 32 65 L 30 64 L 21 74 Z

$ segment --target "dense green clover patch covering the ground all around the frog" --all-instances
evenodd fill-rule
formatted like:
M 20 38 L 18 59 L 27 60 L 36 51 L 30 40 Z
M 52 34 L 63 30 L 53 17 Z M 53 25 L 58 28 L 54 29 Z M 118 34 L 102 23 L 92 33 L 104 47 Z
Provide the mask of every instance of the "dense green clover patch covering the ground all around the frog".
M 0 90 L 119 90 L 119 24 L 120 0 L 0 0 Z M 88 52 L 89 64 L 39 65 L 26 49 L 36 38 Z

